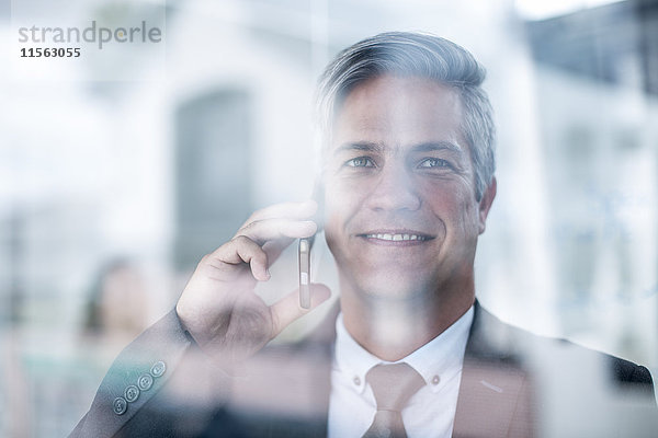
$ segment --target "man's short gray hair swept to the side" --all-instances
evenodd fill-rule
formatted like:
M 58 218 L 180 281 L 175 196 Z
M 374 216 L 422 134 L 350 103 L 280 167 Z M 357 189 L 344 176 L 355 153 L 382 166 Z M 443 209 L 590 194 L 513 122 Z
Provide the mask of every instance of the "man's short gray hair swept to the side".
M 455 89 L 464 106 L 462 132 L 470 147 L 475 193 L 481 199 L 496 171 L 491 104 L 480 88 L 485 68 L 463 47 L 434 35 L 387 32 L 342 50 L 320 77 L 317 111 L 324 153 L 342 101 L 360 83 L 386 73 L 435 80 Z

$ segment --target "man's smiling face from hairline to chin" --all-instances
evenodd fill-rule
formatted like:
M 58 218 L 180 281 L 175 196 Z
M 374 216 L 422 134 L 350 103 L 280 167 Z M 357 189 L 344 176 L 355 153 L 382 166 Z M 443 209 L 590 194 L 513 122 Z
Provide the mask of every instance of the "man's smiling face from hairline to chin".
M 472 280 L 490 201 L 475 198 L 462 117 L 455 91 L 421 78 L 383 76 L 345 97 L 325 172 L 343 290 L 406 298 Z

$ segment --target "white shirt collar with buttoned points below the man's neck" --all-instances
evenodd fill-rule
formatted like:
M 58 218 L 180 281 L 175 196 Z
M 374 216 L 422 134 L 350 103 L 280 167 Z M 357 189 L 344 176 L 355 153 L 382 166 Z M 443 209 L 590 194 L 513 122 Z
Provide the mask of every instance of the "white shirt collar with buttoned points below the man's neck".
M 432 392 L 438 392 L 443 383 L 462 370 L 473 314 L 472 306 L 443 333 L 397 362 L 407 362 L 413 367 Z M 394 362 L 382 360 L 359 345 L 345 328 L 341 312 L 336 320 L 334 365 L 337 369 L 351 380 L 354 391 L 363 393 L 365 374 L 378 364 Z

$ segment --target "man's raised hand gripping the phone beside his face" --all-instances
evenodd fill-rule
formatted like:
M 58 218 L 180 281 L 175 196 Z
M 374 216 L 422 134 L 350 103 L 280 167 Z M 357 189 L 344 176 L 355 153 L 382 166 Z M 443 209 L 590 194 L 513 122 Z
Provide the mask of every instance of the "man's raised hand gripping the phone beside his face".
M 290 323 L 307 313 L 293 291 L 268 307 L 253 289 L 270 279 L 269 267 L 295 239 L 317 231 L 307 220 L 315 201 L 285 203 L 256 211 L 236 235 L 204 256 L 175 310 L 194 341 L 223 367 L 232 367 L 260 350 Z M 329 289 L 311 285 L 311 309 Z

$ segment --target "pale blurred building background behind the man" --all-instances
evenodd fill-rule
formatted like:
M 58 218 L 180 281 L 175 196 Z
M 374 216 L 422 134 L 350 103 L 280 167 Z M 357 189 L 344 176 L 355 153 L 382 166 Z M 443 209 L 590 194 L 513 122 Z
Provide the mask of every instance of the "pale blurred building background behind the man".
M 252 210 L 309 197 L 316 79 L 384 31 L 447 37 L 488 69 L 499 188 L 483 304 L 658 373 L 658 2 L 0 5 L 0 436 L 67 435 L 205 253 Z M 19 58 L 18 25 L 73 18 L 155 20 L 162 41 Z M 314 275 L 336 292 L 321 243 Z M 288 252 L 261 293 L 296 275 Z

